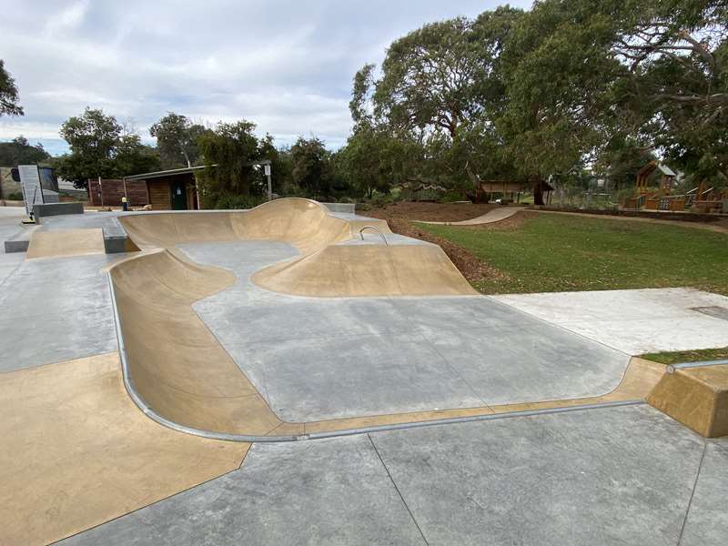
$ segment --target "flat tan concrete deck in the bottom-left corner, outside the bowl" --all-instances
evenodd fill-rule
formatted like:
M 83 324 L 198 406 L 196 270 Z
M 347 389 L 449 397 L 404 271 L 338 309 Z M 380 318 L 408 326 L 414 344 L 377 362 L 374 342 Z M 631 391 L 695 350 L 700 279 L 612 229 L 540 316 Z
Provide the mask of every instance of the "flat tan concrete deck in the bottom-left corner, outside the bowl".
M 116 353 L 0 374 L 0 544 L 45 544 L 238 469 L 249 444 L 167 429 Z

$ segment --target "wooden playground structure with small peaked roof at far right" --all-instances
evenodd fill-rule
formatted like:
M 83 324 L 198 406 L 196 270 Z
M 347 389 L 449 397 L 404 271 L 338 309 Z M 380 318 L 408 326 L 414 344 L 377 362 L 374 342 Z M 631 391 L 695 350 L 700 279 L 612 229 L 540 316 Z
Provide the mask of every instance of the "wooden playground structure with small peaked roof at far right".
M 659 188 L 650 187 L 650 178 L 660 173 Z M 728 188 L 716 189 L 701 182 L 697 187 L 681 195 L 672 195 L 677 175 L 670 167 L 651 161 L 637 173 L 637 195 L 627 197 L 623 207 L 630 209 L 657 210 L 665 212 L 692 211 L 698 213 L 720 213 L 728 211 Z

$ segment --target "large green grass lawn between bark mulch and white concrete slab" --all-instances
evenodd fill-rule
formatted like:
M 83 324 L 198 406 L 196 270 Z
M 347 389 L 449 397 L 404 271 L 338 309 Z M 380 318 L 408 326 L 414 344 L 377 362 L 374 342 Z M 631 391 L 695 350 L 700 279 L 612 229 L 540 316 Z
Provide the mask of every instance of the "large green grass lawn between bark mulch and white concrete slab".
M 485 294 L 695 287 L 728 295 L 728 236 L 691 227 L 541 214 L 512 229 L 419 224 L 505 280 Z

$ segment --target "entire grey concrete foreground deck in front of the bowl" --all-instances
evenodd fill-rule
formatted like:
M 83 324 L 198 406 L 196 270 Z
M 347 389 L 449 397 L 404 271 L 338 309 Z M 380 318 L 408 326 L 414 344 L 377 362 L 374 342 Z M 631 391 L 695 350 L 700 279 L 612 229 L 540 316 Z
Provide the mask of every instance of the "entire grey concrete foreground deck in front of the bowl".
M 647 406 L 257 444 L 63 543 L 718 544 L 726 450 Z

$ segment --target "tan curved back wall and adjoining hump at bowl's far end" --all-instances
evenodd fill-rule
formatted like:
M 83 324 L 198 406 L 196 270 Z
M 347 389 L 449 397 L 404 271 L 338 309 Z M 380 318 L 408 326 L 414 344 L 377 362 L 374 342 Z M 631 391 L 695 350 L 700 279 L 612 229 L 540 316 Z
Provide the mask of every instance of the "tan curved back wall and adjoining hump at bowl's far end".
M 276 199 L 245 211 L 165 213 L 120 217 L 129 237 L 143 249 L 233 240 L 275 240 L 302 256 L 265 268 L 254 276 L 261 287 L 318 297 L 476 294 L 450 258 L 434 245 L 335 243 L 359 237 L 382 220 L 343 220 L 315 201 Z

